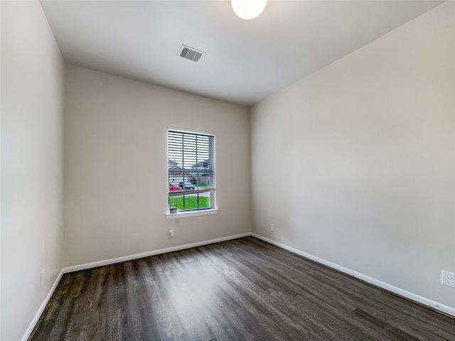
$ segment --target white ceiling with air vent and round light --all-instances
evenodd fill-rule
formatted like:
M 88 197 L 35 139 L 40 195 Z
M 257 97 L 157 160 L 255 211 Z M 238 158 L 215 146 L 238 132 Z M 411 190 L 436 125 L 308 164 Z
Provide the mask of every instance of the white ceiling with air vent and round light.
M 441 2 L 268 1 L 250 21 L 217 0 L 41 5 L 67 63 L 249 106 Z

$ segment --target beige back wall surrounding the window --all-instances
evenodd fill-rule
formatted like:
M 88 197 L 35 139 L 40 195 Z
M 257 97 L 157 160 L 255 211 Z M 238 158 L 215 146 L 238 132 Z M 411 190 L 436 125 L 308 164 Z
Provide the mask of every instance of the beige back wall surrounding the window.
M 250 232 L 247 108 L 71 65 L 65 103 L 65 266 Z M 166 220 L 168 126 L 215 133 L 217 215 Z

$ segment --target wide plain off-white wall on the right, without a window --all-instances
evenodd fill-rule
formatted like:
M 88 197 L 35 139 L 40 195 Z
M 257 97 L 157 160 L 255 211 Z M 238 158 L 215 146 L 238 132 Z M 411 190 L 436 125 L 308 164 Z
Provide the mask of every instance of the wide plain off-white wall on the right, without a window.
M 454 6 L 252 108 L 252 232 L 455 308 Z

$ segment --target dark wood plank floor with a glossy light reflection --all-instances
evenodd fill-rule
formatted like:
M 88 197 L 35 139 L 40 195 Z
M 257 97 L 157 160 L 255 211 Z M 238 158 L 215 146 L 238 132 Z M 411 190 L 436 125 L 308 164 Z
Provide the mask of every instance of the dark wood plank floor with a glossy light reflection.
M 455 319 L 253 237 L 65 274 L 29 340 L 455 340 Z

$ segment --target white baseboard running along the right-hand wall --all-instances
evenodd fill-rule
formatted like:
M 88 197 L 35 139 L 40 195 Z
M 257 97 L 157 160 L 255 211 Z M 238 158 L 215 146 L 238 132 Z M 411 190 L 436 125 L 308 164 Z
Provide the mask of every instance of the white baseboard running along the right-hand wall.
M 448 305 L 444 305 L 432 300 L 429 300 L 428 298 L 424 298 L 422 296 L 416 295 L 415 293 L 410 293 L 409 291 L 405 291 L 401 288 L 397 288 L 396 286 L 391 286 L 390 284 L 387 284 L 382 281 L 378 281 L 375 278 L 371 278 L 369 276 L 365 276 L 363 274 L 358 273 L 357 271 L 350 270 L 348 268 L 345 268 L 344 266 L 340 266 L 338 264 L 332 263 L 331 261 L 326 261 L 325 259 L 321 259 L 319 257 L 313 256 L 312 254 L 307 254 L 304 251 L 300 251 L 298 249 L 294 249 L 293 247 L 288 247 L 285 244 L 275 242 L 272 239 L 268 239 L 266 237 L 262 237 L 259 234 L 252 233 L 252 237 L 256 237 L 257 239 L 261 239 L 264 242 L 274 244 L 277 247 L 281 247 L 282 249 L 288 250 L 293 252 L 294 254 L 299 254 L 299 256 L 304 256 L 305 258 L 311 259 L 312 261 L 316 261 L 319 264 L 326 265 L 332 269 L 336 269 L 338 271 L 341 271 L 345 274 L 348 274 L 350 276 L 353 276 L 355 278 L 359 278 L 362 281 L 368 282 L 370 284 L 373 284 L 374 286 L 378 286 L 382 289 L 385 289 L 387 291 L 390 291 L 392 293 L 396 293 L 399 296 L 405 297 L 407 299 L 410 299 L 411 301 L 420 303 L 422 305 L 427 305 L 429 308 L 433 308 L 435 310 L 439 310 L 441 313 L 445 313 L 447 315 L 451 315 L 455 317 L 455 308 L 451 308 Z

